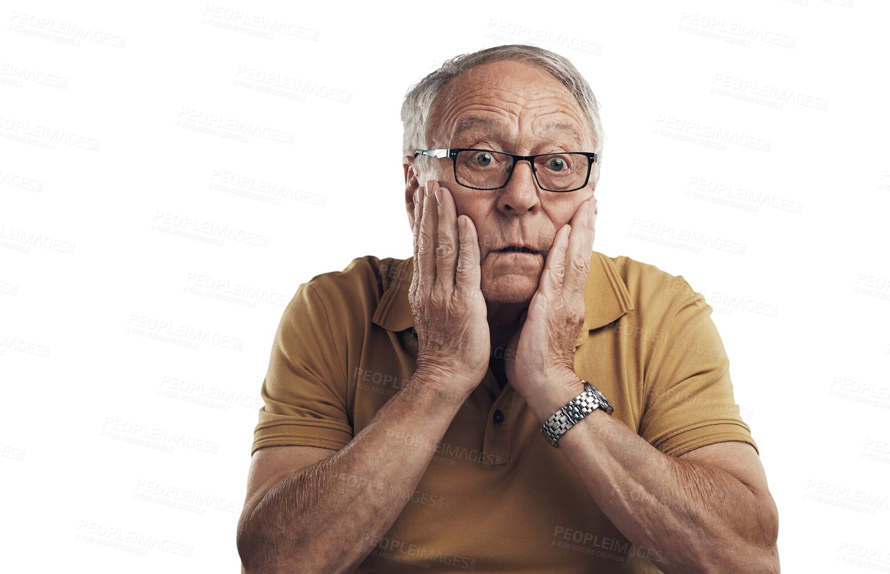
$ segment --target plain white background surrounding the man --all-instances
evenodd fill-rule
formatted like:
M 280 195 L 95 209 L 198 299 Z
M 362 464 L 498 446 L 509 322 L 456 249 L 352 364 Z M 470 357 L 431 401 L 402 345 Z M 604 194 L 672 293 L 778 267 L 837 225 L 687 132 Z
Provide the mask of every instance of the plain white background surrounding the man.
M 77 4 L 0 12 L 8 571 L 238 571 L 284 306 L 411 255 L 401 98 L 515 43 L 602 104 L 595 249 L 714 307 L 783 570 L 890 571 L 886 3 Z

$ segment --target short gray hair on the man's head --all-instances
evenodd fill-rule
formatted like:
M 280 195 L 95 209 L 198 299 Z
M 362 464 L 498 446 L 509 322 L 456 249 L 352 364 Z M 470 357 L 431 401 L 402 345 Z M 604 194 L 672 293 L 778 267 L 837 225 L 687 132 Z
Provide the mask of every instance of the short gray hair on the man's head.
M 430 138 L 429 118 L 433 103 L 441 90 L 452 79 L 465 74 L 469 69 L 490 61 L 526 61 L 553 75 L 569 88 L 581 106 L 594 138 L 596 162 L 591 179 L 594 184 L 600 179 L 600 164 L 603 153 L 603 122 L 600 119 L 599 103 L 587 80 L 581 76 L 568 59 L 558 53 L 529 44 L 505 44 L 485 48 L 478 52 L 459 54 L 442 63 L 423 79 L 417 81 L 405 94 L 401 104 L 403 125 L 402 156 L 414 156 L 414 150 L 423 150 Z M 422 167 L 419 166 L 418 167 Z

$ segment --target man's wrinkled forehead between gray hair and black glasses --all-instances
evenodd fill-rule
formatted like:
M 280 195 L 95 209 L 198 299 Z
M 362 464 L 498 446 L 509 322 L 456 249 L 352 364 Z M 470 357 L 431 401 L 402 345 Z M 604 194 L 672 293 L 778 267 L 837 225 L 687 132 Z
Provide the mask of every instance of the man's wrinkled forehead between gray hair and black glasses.
M 519 135 L 587 150 L 587 120 L 570 90 L 549 72 L 519 61 L 488 62 L 452 78 L 433 103 L 430 144 L 458 147 L 486 136 Z

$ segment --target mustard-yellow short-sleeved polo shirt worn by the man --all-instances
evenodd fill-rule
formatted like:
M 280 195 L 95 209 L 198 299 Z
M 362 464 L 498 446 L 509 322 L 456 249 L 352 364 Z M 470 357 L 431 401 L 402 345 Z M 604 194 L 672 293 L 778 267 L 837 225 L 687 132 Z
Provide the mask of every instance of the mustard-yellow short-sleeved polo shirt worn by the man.
M 300 285 L 272 344 L 251 456 L 278 445 L 342 449 L 409 383 L 413 272 L 413 257 L 366 255 Z M 757 449 L 713 310 L 683 276 L 594 251 L 584 304 L 575 372 L 610 400 L 611 416 L 667 455 L 722 441 Z M 670 554 L 615 528 L 522 396 L 510 384 L 501 391 L 489 369 L 355 571 L 659 572 L 664 561 Z

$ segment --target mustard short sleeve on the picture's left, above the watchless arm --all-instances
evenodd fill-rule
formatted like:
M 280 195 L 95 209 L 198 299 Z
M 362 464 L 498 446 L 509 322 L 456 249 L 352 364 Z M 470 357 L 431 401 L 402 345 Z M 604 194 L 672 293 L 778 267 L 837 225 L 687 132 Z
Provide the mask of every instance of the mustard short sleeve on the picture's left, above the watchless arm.
M 275 333 L 251 456 L 263 447 L 339 450 L 352 441 L 341 356 L 320 295 L 303 283 Z

